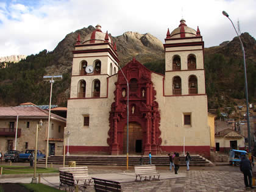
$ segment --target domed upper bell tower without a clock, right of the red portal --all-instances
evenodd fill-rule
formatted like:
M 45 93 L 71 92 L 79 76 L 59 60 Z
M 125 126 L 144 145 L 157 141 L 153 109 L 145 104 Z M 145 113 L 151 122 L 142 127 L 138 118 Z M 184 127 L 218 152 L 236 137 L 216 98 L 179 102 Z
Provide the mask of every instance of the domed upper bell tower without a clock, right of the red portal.
M 194 96 L 205 94 L 204 41 L 185 20 L 165 38 L 165 94 Z

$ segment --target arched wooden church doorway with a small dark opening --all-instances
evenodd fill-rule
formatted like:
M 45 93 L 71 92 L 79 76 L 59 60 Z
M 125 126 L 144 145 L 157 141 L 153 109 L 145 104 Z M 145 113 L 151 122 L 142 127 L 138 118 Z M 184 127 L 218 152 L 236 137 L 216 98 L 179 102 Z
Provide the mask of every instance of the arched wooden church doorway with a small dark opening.
M 123 133 L 123 153 L 127 152 L 127 124 Z M 129 154 L 141 154 L 143 152 L 143 134 L 141 125 L 136 122 L 129 123 Z

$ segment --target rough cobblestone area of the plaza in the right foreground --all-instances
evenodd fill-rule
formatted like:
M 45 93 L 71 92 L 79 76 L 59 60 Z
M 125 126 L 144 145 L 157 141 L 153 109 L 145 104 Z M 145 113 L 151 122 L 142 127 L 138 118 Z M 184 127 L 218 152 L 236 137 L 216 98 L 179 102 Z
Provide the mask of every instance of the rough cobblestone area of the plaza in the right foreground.
M 243 174 L 241 172 L 181 170 L 180 173 L 185 173 L 186 177 L 160 181 L 121 183 L 121 186 L 124 192 L 256 191 L 256 187 L 254 189 L 244 187 Z M 174 172 L 171 172 L 171 174 L 174 174 Z M 86 191 L 94 191 L 93 186 L 88 187 Z

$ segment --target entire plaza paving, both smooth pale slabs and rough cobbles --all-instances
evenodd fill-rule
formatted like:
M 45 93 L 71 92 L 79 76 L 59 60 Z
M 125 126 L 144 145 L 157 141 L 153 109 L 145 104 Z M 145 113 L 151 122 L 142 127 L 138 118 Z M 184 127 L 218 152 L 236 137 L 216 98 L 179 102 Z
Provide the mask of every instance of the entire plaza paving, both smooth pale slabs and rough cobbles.
M 134 172 L 131 166 L 126 170 L 126 166 L 88 166 L 89 174 L 110 174 L 121 172 Z M 157 166 L 160 173 L 174 174 L 174 171 L 168 171 L 166 166 Z M 254 167 L 254 171 L 256 168 Z M 113 174 L 113 180 L 119 176 Z M 179 174 L 185 174 L 185 177 L 175 179 L 162 179 L 160 181 L 143 181 L 121 183 L 124 192 L 149 192 L 149 191 L 256 191 L 255 189 L 245 188 L 243 174 L 236 166 L 212 166 L 212 167 L 191 167 L 186 171 L 185 167 L 180 167 Z M 115 178 L 114 178 L 115 177 Z M 161 177 L 160 177 L 161 178 Z M 44 180 L 45 179 L 45 180 Z M 23 182 L 21 178 L 2 178 L 1 182 Z M 30 182 L 31 178 L 23 179 L 24 183 Z M 42 182 L 46 185 L 59 188 L 59 176 L 42 177 Z M 86 191 L 94 192 L 93 185 Z

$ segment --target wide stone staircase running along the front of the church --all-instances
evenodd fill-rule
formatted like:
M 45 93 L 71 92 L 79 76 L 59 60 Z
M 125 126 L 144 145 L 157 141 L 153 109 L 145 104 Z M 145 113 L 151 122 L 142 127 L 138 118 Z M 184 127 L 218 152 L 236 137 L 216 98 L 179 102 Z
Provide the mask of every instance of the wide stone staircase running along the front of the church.
M 208 161 L 200 155 L 191 155 L 190 166 L 211 166 L 212 162 Z M 126 156 L 118 155 L 87 155 L 87 156 L 69 156 L 65 157 L 65 164 L 68 165 L 68 162 L 74 161 L 76 165 L 117 165 L 117 166 L 126 166 Z M 149 158 L 143 157 L 143 164 L 148 164 Z M 38 163 L 45 163 L 45 158 L 38 160 Z M 48 163 L 52 164 L 63 164 L 63 156 L 51 156 L 48 157 Z M 151 163 L 157 166 L 169 166 L 169 157 L 153 155 Z M 140 155 L 129 156 L 129 165 L 140 165 Z M 185 157 L 180 156 L 180 166 L 186 166 Z

